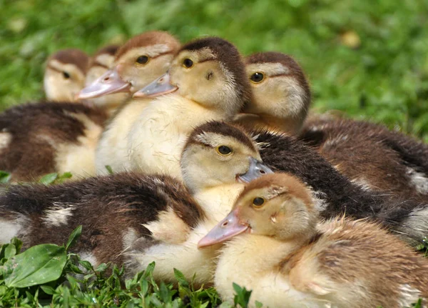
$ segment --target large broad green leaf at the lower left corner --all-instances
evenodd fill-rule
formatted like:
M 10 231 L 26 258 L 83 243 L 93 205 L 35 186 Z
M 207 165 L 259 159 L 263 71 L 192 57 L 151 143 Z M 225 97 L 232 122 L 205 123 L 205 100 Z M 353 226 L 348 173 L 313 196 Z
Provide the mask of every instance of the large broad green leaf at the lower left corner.
M 41 244 L 17 254 L 5 264 L 7 287 L 30 287 L 58 279 L 66 265 L 66 249 L 54 244 Z

